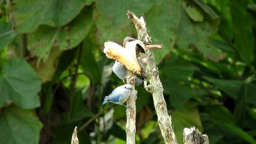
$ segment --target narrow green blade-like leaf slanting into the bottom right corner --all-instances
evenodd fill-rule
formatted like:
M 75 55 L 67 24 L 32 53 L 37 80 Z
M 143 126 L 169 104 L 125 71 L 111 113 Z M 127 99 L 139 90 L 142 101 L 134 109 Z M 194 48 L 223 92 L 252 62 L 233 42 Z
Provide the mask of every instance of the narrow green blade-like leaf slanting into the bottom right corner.
M 224 122 L 224 123 L 219 123 L 219 126 L 227 130 L 229 133 L 239 136 L 240 138 L 242 138 L 243 140 L 247 141 L 250 144 L 256 144 L 256 140 L 252 136 L 250 136 L 245 131 L 243 131 L 242 129 L 232 124 Z

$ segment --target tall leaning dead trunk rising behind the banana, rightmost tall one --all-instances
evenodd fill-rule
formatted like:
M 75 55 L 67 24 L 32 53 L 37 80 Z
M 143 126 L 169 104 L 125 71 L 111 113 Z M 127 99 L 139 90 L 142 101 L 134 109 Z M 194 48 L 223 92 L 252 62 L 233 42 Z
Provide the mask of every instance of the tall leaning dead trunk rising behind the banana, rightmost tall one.
M 144 16 L 137 18 L 136 15 L 130 11 L 127 12 L 127 15 L 136 27 L 138 39 L 146 43 L 151 43 L 151 37 L 148 36 L 146 32 Z M 177 144 L 172 127 L 172 117 L 167 113 L 166 102 L 163 95 L 164 89 L 159 79 L 158 68 L 155 66 L 155 57 L 152 50 L 147 50 L 145 54 L 141 54 L 141 60 L 146 65 L 147 78 L 150 82 L 150 85 L 146 86 L 146 90 L 152 92 L 155 111 L 158 117 L 158 125 L 164 137 L 165 144 Z

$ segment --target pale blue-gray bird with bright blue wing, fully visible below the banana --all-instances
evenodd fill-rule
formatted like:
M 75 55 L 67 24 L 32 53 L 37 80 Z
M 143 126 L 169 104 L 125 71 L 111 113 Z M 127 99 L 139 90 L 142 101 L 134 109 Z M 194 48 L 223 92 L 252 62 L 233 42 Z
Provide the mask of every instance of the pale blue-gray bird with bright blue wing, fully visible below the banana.
M 126 102 L 126 100 L 128 99 L 131 90 L 132 90 L 132 87 L 129 84 L 124 84 L 117 87 L 115 90 L 111 92 L 110 95 L 104 98 L 102 105 L 106 104 L 107 102 L 123 105 L 123 103 Z M 125 107 L 130 108 L 129 106 L 125 106 Z

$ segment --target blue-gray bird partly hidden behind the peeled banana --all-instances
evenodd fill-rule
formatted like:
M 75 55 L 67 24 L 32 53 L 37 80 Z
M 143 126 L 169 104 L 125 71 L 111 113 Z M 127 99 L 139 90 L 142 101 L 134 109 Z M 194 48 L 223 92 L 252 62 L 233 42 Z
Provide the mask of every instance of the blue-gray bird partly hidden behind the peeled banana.
M 127 68 L 126 66 L 122 65 L 121 63 L 119 63 L 118 61 L 116 61 L 114 63 L 114 65 L 112 66 L 112 71 L 119 77 L 119 79 L 124 80 L 125 76 L 127 75 Z M 142 84 L 142 80 L 140 80 L 139 78 L 137 78 L 135 80 L 135 85 L 139 86 Z

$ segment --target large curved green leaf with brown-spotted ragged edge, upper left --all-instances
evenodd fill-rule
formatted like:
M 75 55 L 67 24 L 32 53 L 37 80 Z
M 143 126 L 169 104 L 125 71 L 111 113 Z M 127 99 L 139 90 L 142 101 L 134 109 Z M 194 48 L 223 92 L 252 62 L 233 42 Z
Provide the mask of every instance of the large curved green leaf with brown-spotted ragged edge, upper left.
M 63 27 L 38 27 L 28 37 L 28 50 L 45 62 L 52 47 L 67 50 L 77 46 L 92 26 L 91 7 L 86 7 L 71 23 Z

